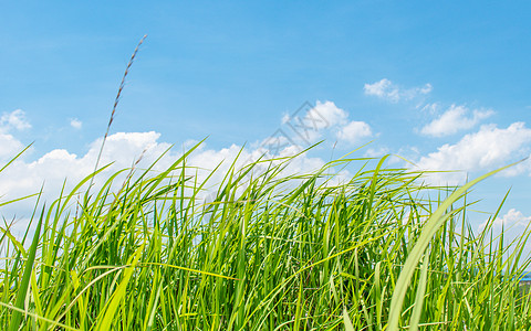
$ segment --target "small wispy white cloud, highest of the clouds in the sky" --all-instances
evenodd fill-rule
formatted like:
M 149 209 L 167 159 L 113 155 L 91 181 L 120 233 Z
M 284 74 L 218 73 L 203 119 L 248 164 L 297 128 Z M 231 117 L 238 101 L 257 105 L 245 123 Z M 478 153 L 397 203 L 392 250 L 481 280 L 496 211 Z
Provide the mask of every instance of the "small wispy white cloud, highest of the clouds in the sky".
M 387 78 L 373 84 L 365 84 L 363 87 L 366 95 L 376 96 L 392 103 L 400 100 L 410 100 L 421 95 L 427 95 L 431 92 L 431 84 L 426 84 L 421 87 L 403 88 Z

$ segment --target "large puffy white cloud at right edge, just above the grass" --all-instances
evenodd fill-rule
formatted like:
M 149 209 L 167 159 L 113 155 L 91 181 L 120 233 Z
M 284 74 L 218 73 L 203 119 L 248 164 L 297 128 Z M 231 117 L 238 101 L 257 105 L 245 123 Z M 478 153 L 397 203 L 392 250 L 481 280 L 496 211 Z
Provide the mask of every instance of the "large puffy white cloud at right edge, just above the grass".
M 486 125 L 478 132 L 466 135 L 457 143 L 445 143 L 436 152 L 421 157 L 417 168 L 430 171 L 459 170 L 457 173 L 428 175 L 436 183 L 458 184 L 465 181 L 465 172 L 502 167 L 518 158 L 528 157 L 530 143 L 531 129 L 523 122 L 513 122 L 507 129 Z M 525 161 L 512 171 L 504 171 L 504 174 L 516 175 L 529 167 L 529 161 Z

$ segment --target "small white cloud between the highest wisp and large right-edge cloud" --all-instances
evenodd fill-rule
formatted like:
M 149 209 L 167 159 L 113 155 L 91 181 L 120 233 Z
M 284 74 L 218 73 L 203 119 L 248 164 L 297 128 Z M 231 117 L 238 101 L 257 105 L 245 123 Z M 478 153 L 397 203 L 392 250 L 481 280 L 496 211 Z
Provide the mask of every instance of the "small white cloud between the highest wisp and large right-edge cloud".
M 433 136 L 433 137 L 442 137 L 456 134 L 460 130 L 467 130 L 475 127 L 480 120 L 492 116 L 494 111 L 488 110 L 478 110 L 472 111 L 472 116 L 467 116 L 470 110 L 464 106 L 451 105 L 448 110 L 446 110 L 438 118 L 433 120 L 430 124 L 423 127 L 420 132 L 423 135 Z

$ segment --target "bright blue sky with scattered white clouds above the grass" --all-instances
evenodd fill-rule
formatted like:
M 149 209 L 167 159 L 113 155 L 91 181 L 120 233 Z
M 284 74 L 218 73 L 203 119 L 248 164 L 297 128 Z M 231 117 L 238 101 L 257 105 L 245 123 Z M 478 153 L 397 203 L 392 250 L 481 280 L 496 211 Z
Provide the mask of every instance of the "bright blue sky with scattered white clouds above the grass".
M 246 157 L 256 156 L 282 129 L 303 147 L 325 139 L 293 171 L 373 141 L 354 156 L 396 153 L 414 169 L 461 170 L 427 180 L 462 183 L 531 153 L 530 9 L 524 1 L 2 2 L 0 164 L 33 145 L 0 173 L 0 202 L 43 182 L 52 197 L 65 178 L 92 170 L 144 34 L 104 152 L 116 169 L 146 148 L 147 162 L 206 137 L 191 162 L 214 168 L 244 145 Z M 289 126 L 304 103 L 324 119 L 306 140 Z M 494 212 L 511 190 L 498 225 L 521 232 L 531 221 L 530 174 L 524 161 L 480 184 L 477 209 Z M 31 205 L 0 213 L 17 213 L 23 228 Z M 479 228 L 488 214 L 469 217 Z

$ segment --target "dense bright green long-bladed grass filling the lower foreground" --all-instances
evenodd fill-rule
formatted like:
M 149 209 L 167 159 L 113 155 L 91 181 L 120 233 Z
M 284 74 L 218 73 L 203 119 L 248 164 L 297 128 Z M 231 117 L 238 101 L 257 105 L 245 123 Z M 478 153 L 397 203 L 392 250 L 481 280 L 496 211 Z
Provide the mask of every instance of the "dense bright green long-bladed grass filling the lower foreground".
M 385 159 L 333 184 L 332 169 L 354 160 L 287 177 L 285 159 L 254 177 L 257 163 L 232 166 L 205 203 L 209 183 L 187 156 L 87 192 L 94 173 L 38 202 L 31 244 L 2 226 L 0 325 L 531 329 L 531 295 L 518 281 L 530 232 L 511 247 L 494 244 L 496 213 L 475 233 L 468 186 L 424 186 L 420 173 L 386 169 Z

